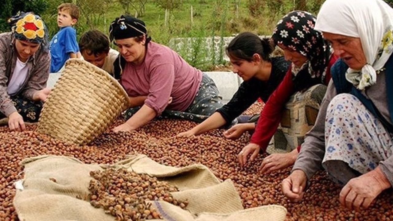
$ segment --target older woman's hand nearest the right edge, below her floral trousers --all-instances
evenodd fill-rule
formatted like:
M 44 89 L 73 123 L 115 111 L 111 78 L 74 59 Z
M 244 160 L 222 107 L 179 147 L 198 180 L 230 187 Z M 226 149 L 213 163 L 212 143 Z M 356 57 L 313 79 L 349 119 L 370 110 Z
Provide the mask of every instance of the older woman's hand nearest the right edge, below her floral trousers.
M 340 204 L 349 210 L 366 209 L 391 184 L 378 166 L 373 171 L 355 177 L 342 188 Z

